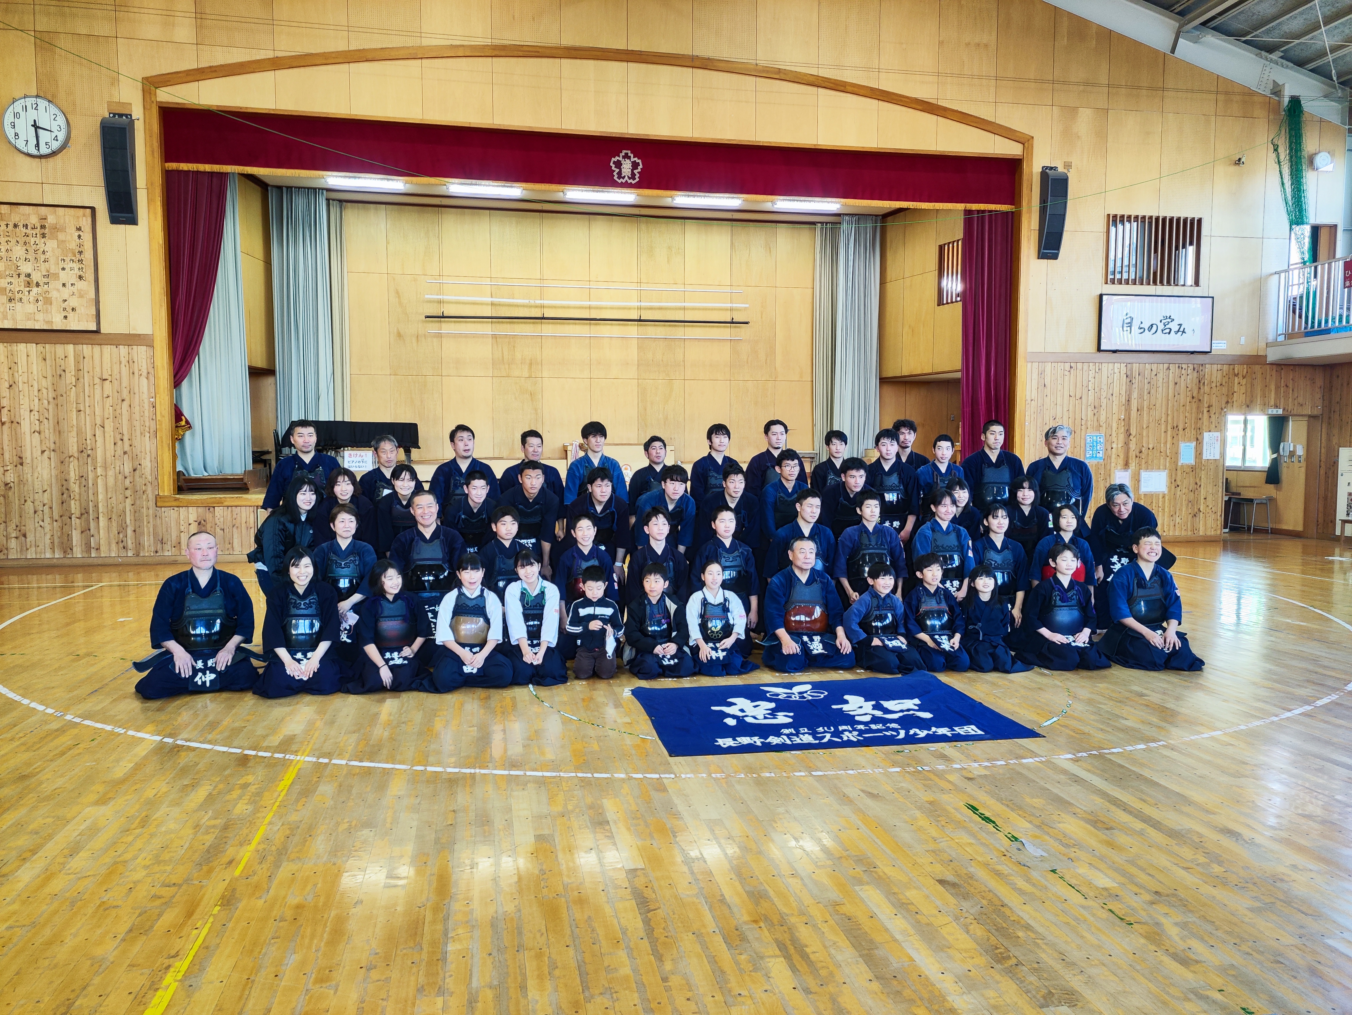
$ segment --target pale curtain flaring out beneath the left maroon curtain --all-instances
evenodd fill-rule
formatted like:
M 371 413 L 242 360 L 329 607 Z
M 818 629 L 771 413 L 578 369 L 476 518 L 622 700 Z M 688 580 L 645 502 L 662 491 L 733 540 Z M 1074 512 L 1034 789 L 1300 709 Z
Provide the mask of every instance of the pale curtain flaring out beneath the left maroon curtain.
M 174 401 L 192 423 L 178 442 L 178 468 L 185 474 L 238 476 L 253 468 L 249 347 L 239 268 L 239 181 L 234 173 L 226 191 L 226 223 L 207 330 L 192 370 L 174 389 Z

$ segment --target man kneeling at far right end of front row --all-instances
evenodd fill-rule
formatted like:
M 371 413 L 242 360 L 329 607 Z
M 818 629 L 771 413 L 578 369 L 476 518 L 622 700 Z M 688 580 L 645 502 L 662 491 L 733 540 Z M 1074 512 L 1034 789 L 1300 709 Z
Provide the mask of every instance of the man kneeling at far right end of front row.
M 1113 626 L 1099 647 L 1119 666 L 1195 673 L 1206 664 L 1179 630 L 1183 600 L 1174 576 L 1160 562 L 1164 543 L 1159 530 L 1137 530 L 1132 549 L 1136 560 L 1119 568 L 1107 587 Z

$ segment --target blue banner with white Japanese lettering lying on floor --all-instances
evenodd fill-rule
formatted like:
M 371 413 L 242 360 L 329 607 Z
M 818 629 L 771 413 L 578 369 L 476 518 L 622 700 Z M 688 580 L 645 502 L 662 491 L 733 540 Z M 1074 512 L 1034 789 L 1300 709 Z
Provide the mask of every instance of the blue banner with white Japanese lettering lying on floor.
M 634 688 L 672 757 L 1041 737 L 929 673 Z

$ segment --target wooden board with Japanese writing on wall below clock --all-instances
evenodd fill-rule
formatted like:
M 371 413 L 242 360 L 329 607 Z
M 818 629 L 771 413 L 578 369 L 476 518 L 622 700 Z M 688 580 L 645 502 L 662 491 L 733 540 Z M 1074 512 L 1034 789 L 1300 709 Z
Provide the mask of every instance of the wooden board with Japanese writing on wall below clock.
M 97 331 L 93 208 L 0 204 L 4 331 Z

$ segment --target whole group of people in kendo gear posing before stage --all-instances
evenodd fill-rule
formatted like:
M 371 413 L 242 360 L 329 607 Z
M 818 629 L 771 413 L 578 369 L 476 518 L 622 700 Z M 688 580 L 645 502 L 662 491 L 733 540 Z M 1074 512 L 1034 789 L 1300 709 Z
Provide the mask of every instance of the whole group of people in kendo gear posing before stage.
M 998 420 L 961 464 L 948 434 L 933 460 L 915 451 L 907 419 L 877 431 L 872 462 L 833 430 L 810 476 L 783 420 L 745 468 L 727 426 L 706 437 L 690 470 L 649 438 L 626 480 L 602 423 L 566 474 L 527 430 L 499 477 L 461 424 L 425 487 L 393 438 L 358 478 L 297 420 L 250 554 L 262 653 L 245 647 L 249 593 L 197 533 L 155 600 L 137 691 L 443 693 L 560 684 L 569 662 L 575 678 L 730 676 L 756 669 L 757 645 L 784 673 L 1203 665 L 1155 515 L 1114 484 L 1086 523 L 1094 478 L 1068 427 L 1028 469 Z

